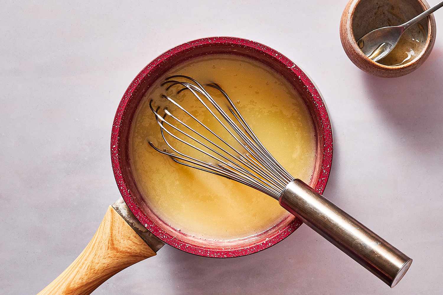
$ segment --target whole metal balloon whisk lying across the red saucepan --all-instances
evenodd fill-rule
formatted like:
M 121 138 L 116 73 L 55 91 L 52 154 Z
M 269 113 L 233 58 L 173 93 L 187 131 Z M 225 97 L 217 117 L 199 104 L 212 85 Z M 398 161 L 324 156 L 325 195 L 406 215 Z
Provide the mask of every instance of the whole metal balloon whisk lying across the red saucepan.
M 205 86 L 221 92 L 230 115 L 197 80 L 184 75 L 174 75 L 167 77 L 161 84 L 166 86 L 166 91 L 175 85 L 180 85 L 177 94 L 183 91 L 191 92 L 198 103 L 210 113 L 211 118 L 229 134 L 229 139 L 219 135 L 192 115 L 177 99 L 163 94 L 161 97 L 174 106 L 176 112 L 172 114 L 168 107 L 164 107 L 161 115 L 160 107 L 153 107 L 153 100 L 150 100 L 149 106 L 168 147 L 160 149 L 149 142 L 153 149 L 171 157 L 178 164 L 235 180 L 271 196 L 292 215 L 390 287 L 394 287 L 401 280 L 412 259 L 315 192 L 302 180 L 291 176 L 260 142 L 220 85 L 210 83 Z M 185 123 L 189 120 L 193 124 Z M 189 146 L 202 157 L 180 151 L 167 140 L 166 134 L 174 138 L 175 142 Z M 211 160 L 205 161 L 205 158 Z

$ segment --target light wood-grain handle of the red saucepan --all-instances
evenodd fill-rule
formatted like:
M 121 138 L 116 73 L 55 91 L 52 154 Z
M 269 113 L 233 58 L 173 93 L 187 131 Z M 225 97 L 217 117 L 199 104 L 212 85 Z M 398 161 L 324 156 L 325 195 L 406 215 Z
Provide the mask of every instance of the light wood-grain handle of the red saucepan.
M 155 252 L 109 206 L 92 240 L 51 284 L 37 295 L 86 295 L 120 270 Z

